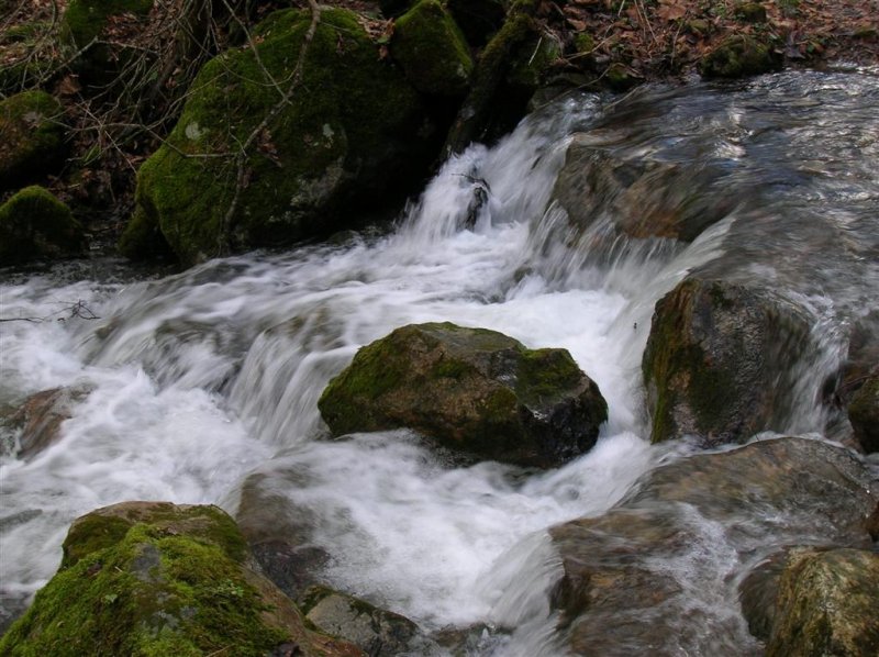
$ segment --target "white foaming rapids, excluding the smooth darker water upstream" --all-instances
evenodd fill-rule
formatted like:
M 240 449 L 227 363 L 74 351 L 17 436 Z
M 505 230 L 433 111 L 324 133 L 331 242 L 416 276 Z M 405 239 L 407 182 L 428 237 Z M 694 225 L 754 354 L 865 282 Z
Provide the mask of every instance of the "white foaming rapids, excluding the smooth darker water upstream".
M 722 253 L 730 227 L 603 264 L 569 248 L 561 218 L 545 210 L 568 135 L 598 107 L 567 101 L 496 147 L 453 158 L 390 234 L 141 282 L 63 282 L 63 267 L 10 277 L 3 316 L 51 319 L 0 325 L 0 403 L 63 386 L 92 391 L 59 442 L 27 461 L 14 449 L 0 460 L 4 599 L 52 577 L 78 515 L 124 500 L 215 503 L 234 515 L 242 483 L 260 472 L 320 519 L 332 586 L 429 630 L 519 628 L 474 654 L 555 654 L 545 593 L 560 566 L 545 530 L 602 513 L 671 454 L 645 441 L 650 314 Z M 470 223 L 482 183 L 488 202 Z M 100 319 L 56 321 L 77 301 Z M 608 400 L 596 448 L 534 474 L 450 465 L 405 432 L 326 439 L 316 399 L 330 378 L 364 344 L 429 321 L 569 349 Z M 282 476 L 291 469 L 297 486 Z

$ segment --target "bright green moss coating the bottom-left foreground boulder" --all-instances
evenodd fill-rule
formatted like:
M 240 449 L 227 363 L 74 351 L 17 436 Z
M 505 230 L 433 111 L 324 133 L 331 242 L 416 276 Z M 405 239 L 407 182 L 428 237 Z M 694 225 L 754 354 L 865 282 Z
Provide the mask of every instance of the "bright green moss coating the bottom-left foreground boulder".
M 214 513 L 221 512 L 208 509 L 200 516 L 207 534 L 214 531 L 208 525 L 220 519 Z M 69 554 L 80 558 L 67 559 L 37 593 L 0 642 L 0 654 L 164 656 L 231 650 L 263 657 L 289 638 L 264 620 L 265 603 L 248 583 L 235 550 L 175 534 L 163 525 L 170 521 L 133 523 L 119 537 L 121 524 L 115 520 L 108 524 L 87 516 L 79 522 L 71 537 L 85 538 L 88 545 L 77 545 Z M 177 517 L 173 524 L 186 521 Z M 224 523 L 232 521 L 225 516 Z M 101 527 L 111 528 L 97 541 L 88 536 Z M 225 534 L 224 528 L 218 531 Z M 233 544 L 240 542 L 243 538 Z

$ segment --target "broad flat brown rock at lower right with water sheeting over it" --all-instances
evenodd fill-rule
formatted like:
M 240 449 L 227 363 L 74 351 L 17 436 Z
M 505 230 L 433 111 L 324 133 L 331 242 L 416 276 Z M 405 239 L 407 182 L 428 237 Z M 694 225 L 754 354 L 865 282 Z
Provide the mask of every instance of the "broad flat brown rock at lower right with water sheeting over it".
M 753 564 L 788 545 L 869 549 L 864 519 L 877 501 L 870 469 L 821 441 L 761 441 L 661 466 L 605 515 L 550 530 L 564 569 L 552 604 L 566 647 L 608 657 L 645 645 L 657 656 L 731 654 L 731 645 L 750 654 L 744 620 L 711 610 L 728 604 Z

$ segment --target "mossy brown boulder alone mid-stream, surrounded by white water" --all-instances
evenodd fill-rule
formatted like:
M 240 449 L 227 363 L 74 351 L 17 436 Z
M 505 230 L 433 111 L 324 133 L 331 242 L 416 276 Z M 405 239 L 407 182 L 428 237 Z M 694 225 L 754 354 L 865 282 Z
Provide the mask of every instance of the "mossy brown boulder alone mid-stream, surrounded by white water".
M 607 403 L 565 349 L 413 324 L 363 347 L 318 405 L 334 435 L 400 427 L 482 457 L 556 466 L 598 438 Z

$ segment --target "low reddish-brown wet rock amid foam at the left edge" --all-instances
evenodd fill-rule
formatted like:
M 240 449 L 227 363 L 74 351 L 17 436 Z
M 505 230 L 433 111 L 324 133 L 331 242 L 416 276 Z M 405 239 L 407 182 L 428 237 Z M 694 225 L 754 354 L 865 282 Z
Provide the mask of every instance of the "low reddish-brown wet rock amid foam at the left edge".
M 60 437 L 62 422 L 71 416 L 74 404 L 81 402 L 91 389 L 87 386 L 53 388 L 25 399 L 0 424 L 18 434 L 18 458 L 29 460 Z

